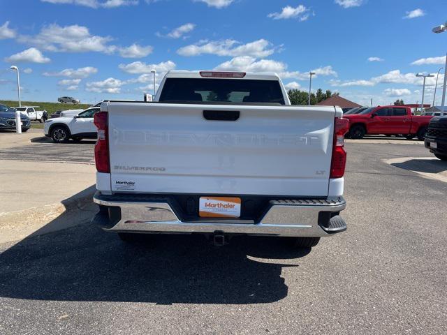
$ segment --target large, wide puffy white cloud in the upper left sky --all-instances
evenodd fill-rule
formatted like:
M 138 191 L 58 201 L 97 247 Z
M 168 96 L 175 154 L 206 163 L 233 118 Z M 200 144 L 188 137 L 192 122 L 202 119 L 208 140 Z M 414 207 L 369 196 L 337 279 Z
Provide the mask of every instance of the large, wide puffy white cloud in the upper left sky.
M 53 52 L 112 53 L 117 49 L 115 45 L 108 45 L 111 37 L 91 35 L 87 27 L 78 24 L 66 27 L 50 24 L 43 27 L 36 36 L 20 36 L 18 40 Z

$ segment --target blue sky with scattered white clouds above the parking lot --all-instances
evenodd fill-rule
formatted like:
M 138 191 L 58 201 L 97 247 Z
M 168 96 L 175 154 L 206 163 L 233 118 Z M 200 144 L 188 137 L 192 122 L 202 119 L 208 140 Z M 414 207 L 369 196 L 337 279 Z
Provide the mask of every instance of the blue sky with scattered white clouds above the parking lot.
M 444 66 L 447 32 L 432 28 L 446 20 L 440 0 L 0 0 L 0 98 L 16 98 L 17 65 L 31 101 L 140 100 L 152 68 L 157 82 L 174 68 L 217 68 L 274 71 L 302 89 L 314 70 L 314 89 L 416 103 L 414 74 Z

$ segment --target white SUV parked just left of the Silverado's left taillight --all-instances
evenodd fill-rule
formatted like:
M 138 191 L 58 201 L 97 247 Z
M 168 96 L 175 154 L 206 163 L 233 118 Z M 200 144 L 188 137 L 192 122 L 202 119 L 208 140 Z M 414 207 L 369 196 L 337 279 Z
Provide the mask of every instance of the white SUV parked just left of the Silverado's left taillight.
M 98 134 L 93 123 L 93 117 L 99 112 L 98 107 L 88 108 L 75 117 L 58 117 L 45 121 L 43 131 L 45 136 L 51 137 L 56 143 L 68 142 L 72 139 L 79 141 L 82 138 L 95 138 Z

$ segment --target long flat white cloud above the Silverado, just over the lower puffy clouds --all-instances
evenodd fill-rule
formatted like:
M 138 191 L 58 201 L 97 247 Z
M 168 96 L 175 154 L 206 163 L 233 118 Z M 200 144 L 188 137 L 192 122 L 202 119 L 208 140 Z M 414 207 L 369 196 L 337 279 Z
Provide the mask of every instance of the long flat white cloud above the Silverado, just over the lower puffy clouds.
M 268 57 L 274 53 L 274 48 L 268 40 L 255 40 L 247 44 L 240 44 L 237 40 L 202 40 L 196 44 L 186 45 L 177 50 L 182 56 L 198 56 L 200 54 L 216 54 L 217 56 L 251 56 Z

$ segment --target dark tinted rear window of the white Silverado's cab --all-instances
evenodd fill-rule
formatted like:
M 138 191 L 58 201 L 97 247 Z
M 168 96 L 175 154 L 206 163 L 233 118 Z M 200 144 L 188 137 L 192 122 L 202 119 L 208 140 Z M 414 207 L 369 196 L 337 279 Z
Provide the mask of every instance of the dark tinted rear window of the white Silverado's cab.
M 285 105 L 279 81 L 248 79 L 167 78 L 159 101 Z

